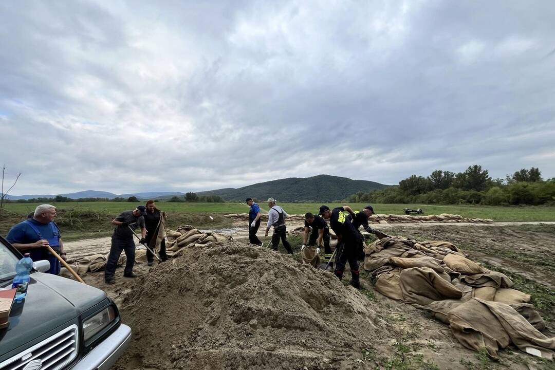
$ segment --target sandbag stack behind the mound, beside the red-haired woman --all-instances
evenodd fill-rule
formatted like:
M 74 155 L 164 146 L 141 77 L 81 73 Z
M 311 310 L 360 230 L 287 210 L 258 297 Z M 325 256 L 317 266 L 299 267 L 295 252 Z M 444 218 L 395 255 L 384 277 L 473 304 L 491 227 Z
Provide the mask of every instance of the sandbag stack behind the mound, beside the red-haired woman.
M 177 231 L 166 231 L 166 254 L 168 257 L 178 257 L 187 248 L 208 247 L 223 243 L 229 237 L 216 232 L 202 232 L 191 225 L 179 226 Z

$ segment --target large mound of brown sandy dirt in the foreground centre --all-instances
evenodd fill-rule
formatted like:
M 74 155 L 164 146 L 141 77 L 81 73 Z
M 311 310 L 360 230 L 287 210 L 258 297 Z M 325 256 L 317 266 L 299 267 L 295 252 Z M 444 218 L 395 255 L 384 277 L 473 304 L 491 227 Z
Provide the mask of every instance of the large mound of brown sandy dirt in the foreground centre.
M 123 302 L 132 368 L 357 368 L 386 343 L 374 303 L 330 272 L 240 242 L 191 248 Z

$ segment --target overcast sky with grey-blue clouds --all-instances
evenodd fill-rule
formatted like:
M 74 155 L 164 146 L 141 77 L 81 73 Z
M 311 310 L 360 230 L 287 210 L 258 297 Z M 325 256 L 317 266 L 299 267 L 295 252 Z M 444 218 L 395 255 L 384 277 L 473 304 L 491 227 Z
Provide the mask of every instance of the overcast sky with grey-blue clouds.
M 555 176 L 555 2 L 2 1 L 11 194 Z

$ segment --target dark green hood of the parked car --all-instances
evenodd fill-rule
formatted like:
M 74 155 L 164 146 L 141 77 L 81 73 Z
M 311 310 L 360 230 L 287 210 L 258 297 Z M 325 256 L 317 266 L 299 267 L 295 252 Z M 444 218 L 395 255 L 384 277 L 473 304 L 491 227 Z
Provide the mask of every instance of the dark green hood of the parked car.
M 13 303 L 9 326 L 0 329 L 0 358 L 74 320 L 106 297 L 106 293 L 92 286 L 65 277 L 33 272 L 27 296 L 21 303 Z

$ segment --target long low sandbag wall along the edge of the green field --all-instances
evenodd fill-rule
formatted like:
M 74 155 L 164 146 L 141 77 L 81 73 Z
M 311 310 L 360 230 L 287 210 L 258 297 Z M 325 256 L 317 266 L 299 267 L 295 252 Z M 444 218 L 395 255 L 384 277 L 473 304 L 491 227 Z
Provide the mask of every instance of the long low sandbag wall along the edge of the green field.
M 249 214 L 247 213 L 233 213 L 224 215 L 233 220 L 248 220 Z M 304 221 L 304 215 L 289 215 L 287 220 Z M 261 215 L 263 221 L 268 221 L 268 215 Z M 450 215 L 443 213 L 441 215 L 427 215 L 427 216 L 410 216 L 410 215 L 372 215 L 368 219 L 369 224 L 425 224 L 425 223 L 439 223 L 439 222 L 493 222 L 491 219 L 470 219 L 461 215 Z

